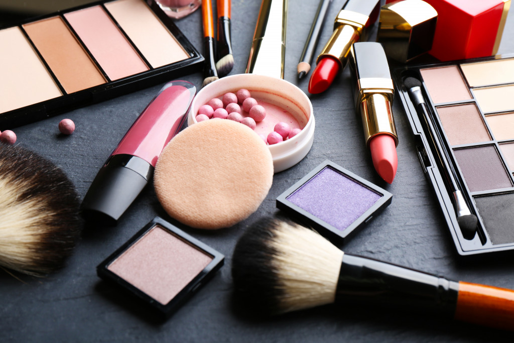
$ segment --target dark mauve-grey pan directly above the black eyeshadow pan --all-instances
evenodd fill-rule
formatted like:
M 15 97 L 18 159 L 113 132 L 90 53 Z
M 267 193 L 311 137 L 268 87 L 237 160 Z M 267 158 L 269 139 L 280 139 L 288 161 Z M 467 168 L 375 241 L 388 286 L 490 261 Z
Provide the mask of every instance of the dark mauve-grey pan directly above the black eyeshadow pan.
M 494 146 L 455 149 L 454 154 L 471 192 L 512 186 L 510 177 Z

